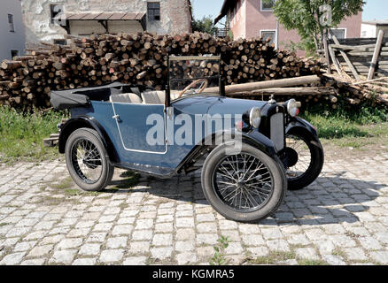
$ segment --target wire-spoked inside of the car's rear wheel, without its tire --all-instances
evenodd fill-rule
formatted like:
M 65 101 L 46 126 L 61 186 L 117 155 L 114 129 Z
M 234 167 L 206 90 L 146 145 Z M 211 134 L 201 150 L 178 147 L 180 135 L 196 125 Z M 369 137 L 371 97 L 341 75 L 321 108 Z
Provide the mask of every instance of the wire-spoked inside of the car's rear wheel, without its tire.
M 71 149 L 72 164 L 78 176 L 87 184 L 96 183 L 103 172 L 101 152 L 86 138 L 74 142 Z

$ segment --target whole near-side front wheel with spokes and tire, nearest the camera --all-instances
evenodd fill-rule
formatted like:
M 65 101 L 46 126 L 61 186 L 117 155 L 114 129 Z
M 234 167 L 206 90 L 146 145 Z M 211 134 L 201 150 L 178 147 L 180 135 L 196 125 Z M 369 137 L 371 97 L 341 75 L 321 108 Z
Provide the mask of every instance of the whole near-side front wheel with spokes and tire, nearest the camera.
M 287 181 L 281 164 L 243 143 L 230 153 L 225 143 L 213 149 L 202 168 L 207 201 L 228 219 L 253 222 L 268 218 L 283 201 Z

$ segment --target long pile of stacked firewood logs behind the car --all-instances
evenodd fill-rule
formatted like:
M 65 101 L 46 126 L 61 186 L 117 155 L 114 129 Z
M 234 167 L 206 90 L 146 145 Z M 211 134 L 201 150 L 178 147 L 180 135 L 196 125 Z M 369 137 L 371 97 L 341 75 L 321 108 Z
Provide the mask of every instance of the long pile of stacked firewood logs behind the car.
M 227 85 L 321 75 L 321 62 L 275 50 L 261 38 L 215 38 L 209 34 L 101 34 L 67 36 L 68 45 L 48 43 L 27 50 L 24 57 L 4 61 L 0 68 L 0 104 L 31 109 L 49 107 L 50 91 L 103 85 L 113 81 L 164 89 L 167 55 L 221 55 L 220 72 Z

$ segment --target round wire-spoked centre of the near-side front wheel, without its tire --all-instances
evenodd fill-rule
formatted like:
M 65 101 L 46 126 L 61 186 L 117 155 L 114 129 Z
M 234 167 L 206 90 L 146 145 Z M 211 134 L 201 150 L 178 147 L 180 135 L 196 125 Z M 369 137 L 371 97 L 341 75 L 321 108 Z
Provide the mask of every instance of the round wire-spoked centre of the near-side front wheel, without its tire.
M 274 180 L 268 166 L 248 153 L 227 156 L 215 166 L 213 189 L 233 210 L 260 210 L 271 198 Z

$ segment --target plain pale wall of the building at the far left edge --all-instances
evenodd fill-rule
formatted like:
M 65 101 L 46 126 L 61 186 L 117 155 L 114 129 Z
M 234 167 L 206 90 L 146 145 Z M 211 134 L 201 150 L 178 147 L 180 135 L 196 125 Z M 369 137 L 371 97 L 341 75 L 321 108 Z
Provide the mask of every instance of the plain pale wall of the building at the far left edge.
M 10 32 L 8 14 L 13 15 L 15 32 Z M 25 36 L 19 0 L 0 1 L 0 21 L 0 60 L 11 59 L 11 50 L 19 50 L 19 55 L 24 55 Z

